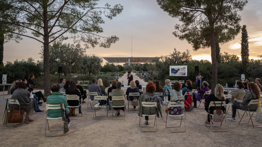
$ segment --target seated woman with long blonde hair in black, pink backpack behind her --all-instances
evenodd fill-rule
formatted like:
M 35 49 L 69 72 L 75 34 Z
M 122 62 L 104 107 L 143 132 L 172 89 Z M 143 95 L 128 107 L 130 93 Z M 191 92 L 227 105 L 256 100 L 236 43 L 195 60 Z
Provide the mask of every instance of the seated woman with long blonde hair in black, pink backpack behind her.
M 223 86 L 221 86 L 220 84 L 217 84 L 215 86 L 215 93 L 210 94 L 206 98 L 206 100 L 203 101 L 203 103 L 205 104 L 205 110 L 207 112 L 208 112 L 208 109 L 209 109 L 209 103 L 211 101 L 226 101 L 226 97 L 224 96 L 224 92 L 223 91 L 224 91 Z M 213 114 L 214 110 L 215 110 L 215 106 L 210 107 L 210 109 L 209 109 L 210 114 Z M 222 106 L 221 110 L 224 112 L 225 111 L 225 107 Z M 211 116 L 211 119 L 212 119 L 212 116 Z M 210 124 L 209 116 L 207 117 L 207 121 L 205 121 L 205 123 Z

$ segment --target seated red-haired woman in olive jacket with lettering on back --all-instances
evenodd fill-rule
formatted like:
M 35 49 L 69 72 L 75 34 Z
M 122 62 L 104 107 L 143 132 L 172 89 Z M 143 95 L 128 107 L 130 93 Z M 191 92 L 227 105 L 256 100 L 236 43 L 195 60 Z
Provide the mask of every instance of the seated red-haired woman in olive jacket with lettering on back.
M 145 114 L 145 115 L 152 115 L 152 114 L 156 114 L 157 111 L 157 117 L 159 118 L 159 113 L 162 117 L 162 113 L 161 113 L 161 104 L 158 103 L 158 97 L 157 95 L 154 93 L 156 91 L 156 86 L 153 82 L 148 82 L 148 84 L 145 87 L 145 93 L 141 94 L 140 98 L 139 98 L 139 108 L 138 108 L 138 116 L 140 116 L 141 114 Z M 146 101 L 146 102 L 157 102 L 157 110 L 155 108 L 148 108 L 148 107 L 142 107 L 142 102 Z M 145 116 L 145 125 L 148 125 L 148 116 Z

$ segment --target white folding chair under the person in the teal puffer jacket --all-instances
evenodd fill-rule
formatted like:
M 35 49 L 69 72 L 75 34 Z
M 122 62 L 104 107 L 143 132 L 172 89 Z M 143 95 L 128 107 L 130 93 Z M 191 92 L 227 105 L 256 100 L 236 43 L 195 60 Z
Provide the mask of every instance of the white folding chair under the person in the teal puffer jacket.
M 51 130 L 51 131 L 50 131 L 50 129 L 49 129 L 49 124 L 48 124 L 48 120 L 49 120 L 49 119 L 61 119 L 61 118 L 62 118 L 62 120 L 65 120 L 64 118 L 66 117 L 66 116 L 65 116 L 65 107 L 64 107 L 64 104 L 62 104 L 62 108 L 61 108 L 61 104 L 57 104 L 57 105 L 47 104 L 47 105 L 46 105 L 46 113 L 47 113 L 48 110 L 54 110 L 54 109 L 58 109 L 58 110 L 61 111 L 61 117 L 48 117 L 47 114 L 46 114 L 45 137 L 54 137 L 54 136 L 63 136 L 63 135 L 64 135 L 64 126 L 63 126 L 63 129 L 61 129 L 61 130 Z M 62 113 L 62 110 L 63 110 L 63 113 Z M 47 136 L 47 135 L 46 135 L 47 126 L 48 126 L 48 131 L 50 131 L 50 132 L 53 132 L 53 131 L 63 131 L 63 134 L 62 134 L 62 135 Z

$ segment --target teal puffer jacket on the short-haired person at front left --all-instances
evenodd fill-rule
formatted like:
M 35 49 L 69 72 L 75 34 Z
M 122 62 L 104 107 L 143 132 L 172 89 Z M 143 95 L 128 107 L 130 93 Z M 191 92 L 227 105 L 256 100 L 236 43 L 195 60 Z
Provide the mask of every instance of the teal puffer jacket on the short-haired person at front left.
M 66 113 L 69 113 L 69 109 L 67 108 L 68 103 L 66 101 L 66 97 L 63 96 L 62 93 L 59 92 L 53 92 L 52 95 L 47 97 L 47 104 L 64 104 Z M 47 111 L 47 116 L 48 117 L 61 117 L 61 110 L 56 109 L 56 110 L 48 110 Z

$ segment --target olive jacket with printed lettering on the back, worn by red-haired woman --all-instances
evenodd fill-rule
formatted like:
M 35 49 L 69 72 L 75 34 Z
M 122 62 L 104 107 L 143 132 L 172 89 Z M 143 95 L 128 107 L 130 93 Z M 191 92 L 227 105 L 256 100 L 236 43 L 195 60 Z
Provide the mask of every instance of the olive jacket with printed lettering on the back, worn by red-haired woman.
M 157 102 L 157 95 L 155 93 L 151 93 L 151 92 L 146 92 L 140 95 L 139 97 L 139 107 L 138 107 L 138 116 L 140 116 L 140 113 L 142 114 L 146 114 L 146 115 L 150 115 L 150 114 L 156 114 L 156 109 L 155 108 L 150 108 L 150 107 L 143 107 L 142 108 L 142 102 Z M 157 105 L 157 117 L 159 118 L 159 113 L 162 117 L 162 113 L 161 113 L 161 107 L 158 104 Z

